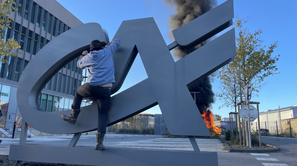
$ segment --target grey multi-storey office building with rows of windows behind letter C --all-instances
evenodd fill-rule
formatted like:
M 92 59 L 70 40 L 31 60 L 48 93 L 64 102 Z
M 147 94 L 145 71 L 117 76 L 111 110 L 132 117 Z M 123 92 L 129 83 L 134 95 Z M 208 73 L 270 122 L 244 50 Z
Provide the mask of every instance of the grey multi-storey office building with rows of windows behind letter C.
M 22 121 L 16 102 L 16 91 L 18 80 L 26 65 L 34 56 L 42 56 L 37 54 L 38 51 L 56 36 L 83 24 L 56 0 L 15 2 L 21 6 L 18 6 L 18 11 L 13 14 L 15 19 L 11 29 L 7 29 L 5 34 L 6 38 L 14 38 L 20 44 L 21 48 L 17 51 L 23 52 L 23 55 L 6 57 L 8 63 L 2 63 L 0 69 L 0 128 L 8 129 L 13 127 L 14 120 L 18 121 L 18 127 Z M 65 65 L 42 89 L 39 104 L 44 111 L 71 109 L 73 94 L 84 83 L 86 76 L 86 70 L 76 66 L 77 60 L 78 58 L 73 59 Z M 89 104 L 83 101 L 82 106 Z

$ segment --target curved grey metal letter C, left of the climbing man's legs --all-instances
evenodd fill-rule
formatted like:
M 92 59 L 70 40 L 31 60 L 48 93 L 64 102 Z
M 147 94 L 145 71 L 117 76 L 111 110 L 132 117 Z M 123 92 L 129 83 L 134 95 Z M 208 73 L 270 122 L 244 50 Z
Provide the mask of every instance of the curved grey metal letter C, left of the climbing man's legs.
M 98 23 L 87 23 L 72 28 L 44 46 L 26 66 L 18 83 L 17 102 L 23 120 L 30 126 L 45 133 L 57 134 L 79 133 L 96 128 L 97 125 L 94 124 L 97 124 L 97 106 L 90 112 L 87 111 L 89 107 L 83 108 L 83 113 L 80 114 L 80 117 L 84 117 L 84 113 L 91 113 L 92 116 L 82 119 L 84 122 L 93 122 L 94 127 L 90 128 L 89 123 L 82 121 L 73 126 L 61 120 L 60 116 L 70 115 L 70 110 L 44 112 L 38 104 L 40 91 L 48 80 L 64 65 L 80 56 L 82 51 L 89 49 L 94 38 L 108 42 Z

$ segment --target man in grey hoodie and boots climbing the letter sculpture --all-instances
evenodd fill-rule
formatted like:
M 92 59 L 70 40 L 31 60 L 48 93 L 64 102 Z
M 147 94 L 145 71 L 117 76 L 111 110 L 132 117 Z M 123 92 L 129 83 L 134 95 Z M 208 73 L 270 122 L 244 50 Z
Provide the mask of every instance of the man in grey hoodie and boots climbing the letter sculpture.
M 87 83 L 80 86 L 73 98 L 71 114 L 62 115 L 61 118 L 74 125 L 80 113 L 80 104 L 83 98 L 92 97 L 98 106 L 98 128 L 96 133 L 95 150 L 103 150 L 104 135 L 107 127 L 107 115 L 110 108 L 111 87 L 115 83 L 113 54 L 121 44 L 119 39 L 108 43 L 103 49 L 99 40 L 93 40 L 90 53 L 83 51 L 77 66 L 81 69 L 87 67 L 89 75 Z

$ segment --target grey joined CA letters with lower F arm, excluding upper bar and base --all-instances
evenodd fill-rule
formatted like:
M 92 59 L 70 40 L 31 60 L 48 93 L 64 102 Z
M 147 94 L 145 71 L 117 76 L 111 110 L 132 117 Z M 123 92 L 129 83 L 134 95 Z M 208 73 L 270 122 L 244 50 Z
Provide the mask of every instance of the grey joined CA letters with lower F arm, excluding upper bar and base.
M 85 29 L 91 32 L 97 29 L 98 34 L 90 34 Z M 77 123 L 70 125 L 60 120 L 60 116 L 70 114 L 70 110 L 42 112 L 37 101 L 40 90 L 49 78 L 80 55 L 94 38 L 106 40 L 99 24 L 80 25 L 55 38 L 30 61 L 20 78 L 17 91 L 20 112 L 30 126 L 53 134 L 79 133 L 97 128 L 96 104 L 82 107 Z M 174 62 L 153 18 L 123 21 L 114 38 L 120 38 L 122 44 L 114 54 L 117 82 L 112 93 L 121 87 L 138 52 L 149 78 L 111 98 L 108 125 L 159 104 L 171 134 L 209 136 L 187 85 L 203 79 L 232 60 L 236 54 L 234 29 L 177 62 Z M 197 70 L 197 66 L 200 70 Z M 160 87 L 160 84 L 166 86 Z

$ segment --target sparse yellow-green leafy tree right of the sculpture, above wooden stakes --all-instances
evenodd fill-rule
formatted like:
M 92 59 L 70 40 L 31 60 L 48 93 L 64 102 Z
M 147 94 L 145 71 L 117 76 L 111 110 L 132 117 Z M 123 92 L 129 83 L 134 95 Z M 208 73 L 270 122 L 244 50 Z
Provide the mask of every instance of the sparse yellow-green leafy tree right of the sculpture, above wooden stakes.
M 253 95 L 258 96 L 257 92 L 268 83 L 264 79 L 279 73 L 275 64 L 279 60 L 279 55 L 272 54 L 278 46 L 278 41 L 268 48 L 263 46 L 263 40 L 259 37 L 263 33 L 261 29 L 251 33 L 248 28 L 243 28 L 248 19 L 249 17 L 237 18 L 234 23 L 238 29 L 235 59 L 213 75 L 219 78 L 221 92 L 217 92 L 216 96 L 224 103 L 221 107 L 233 106 L 235 111 L 238 98 L 244 94 L 244 86 L 247 83 L 251 83 Z

